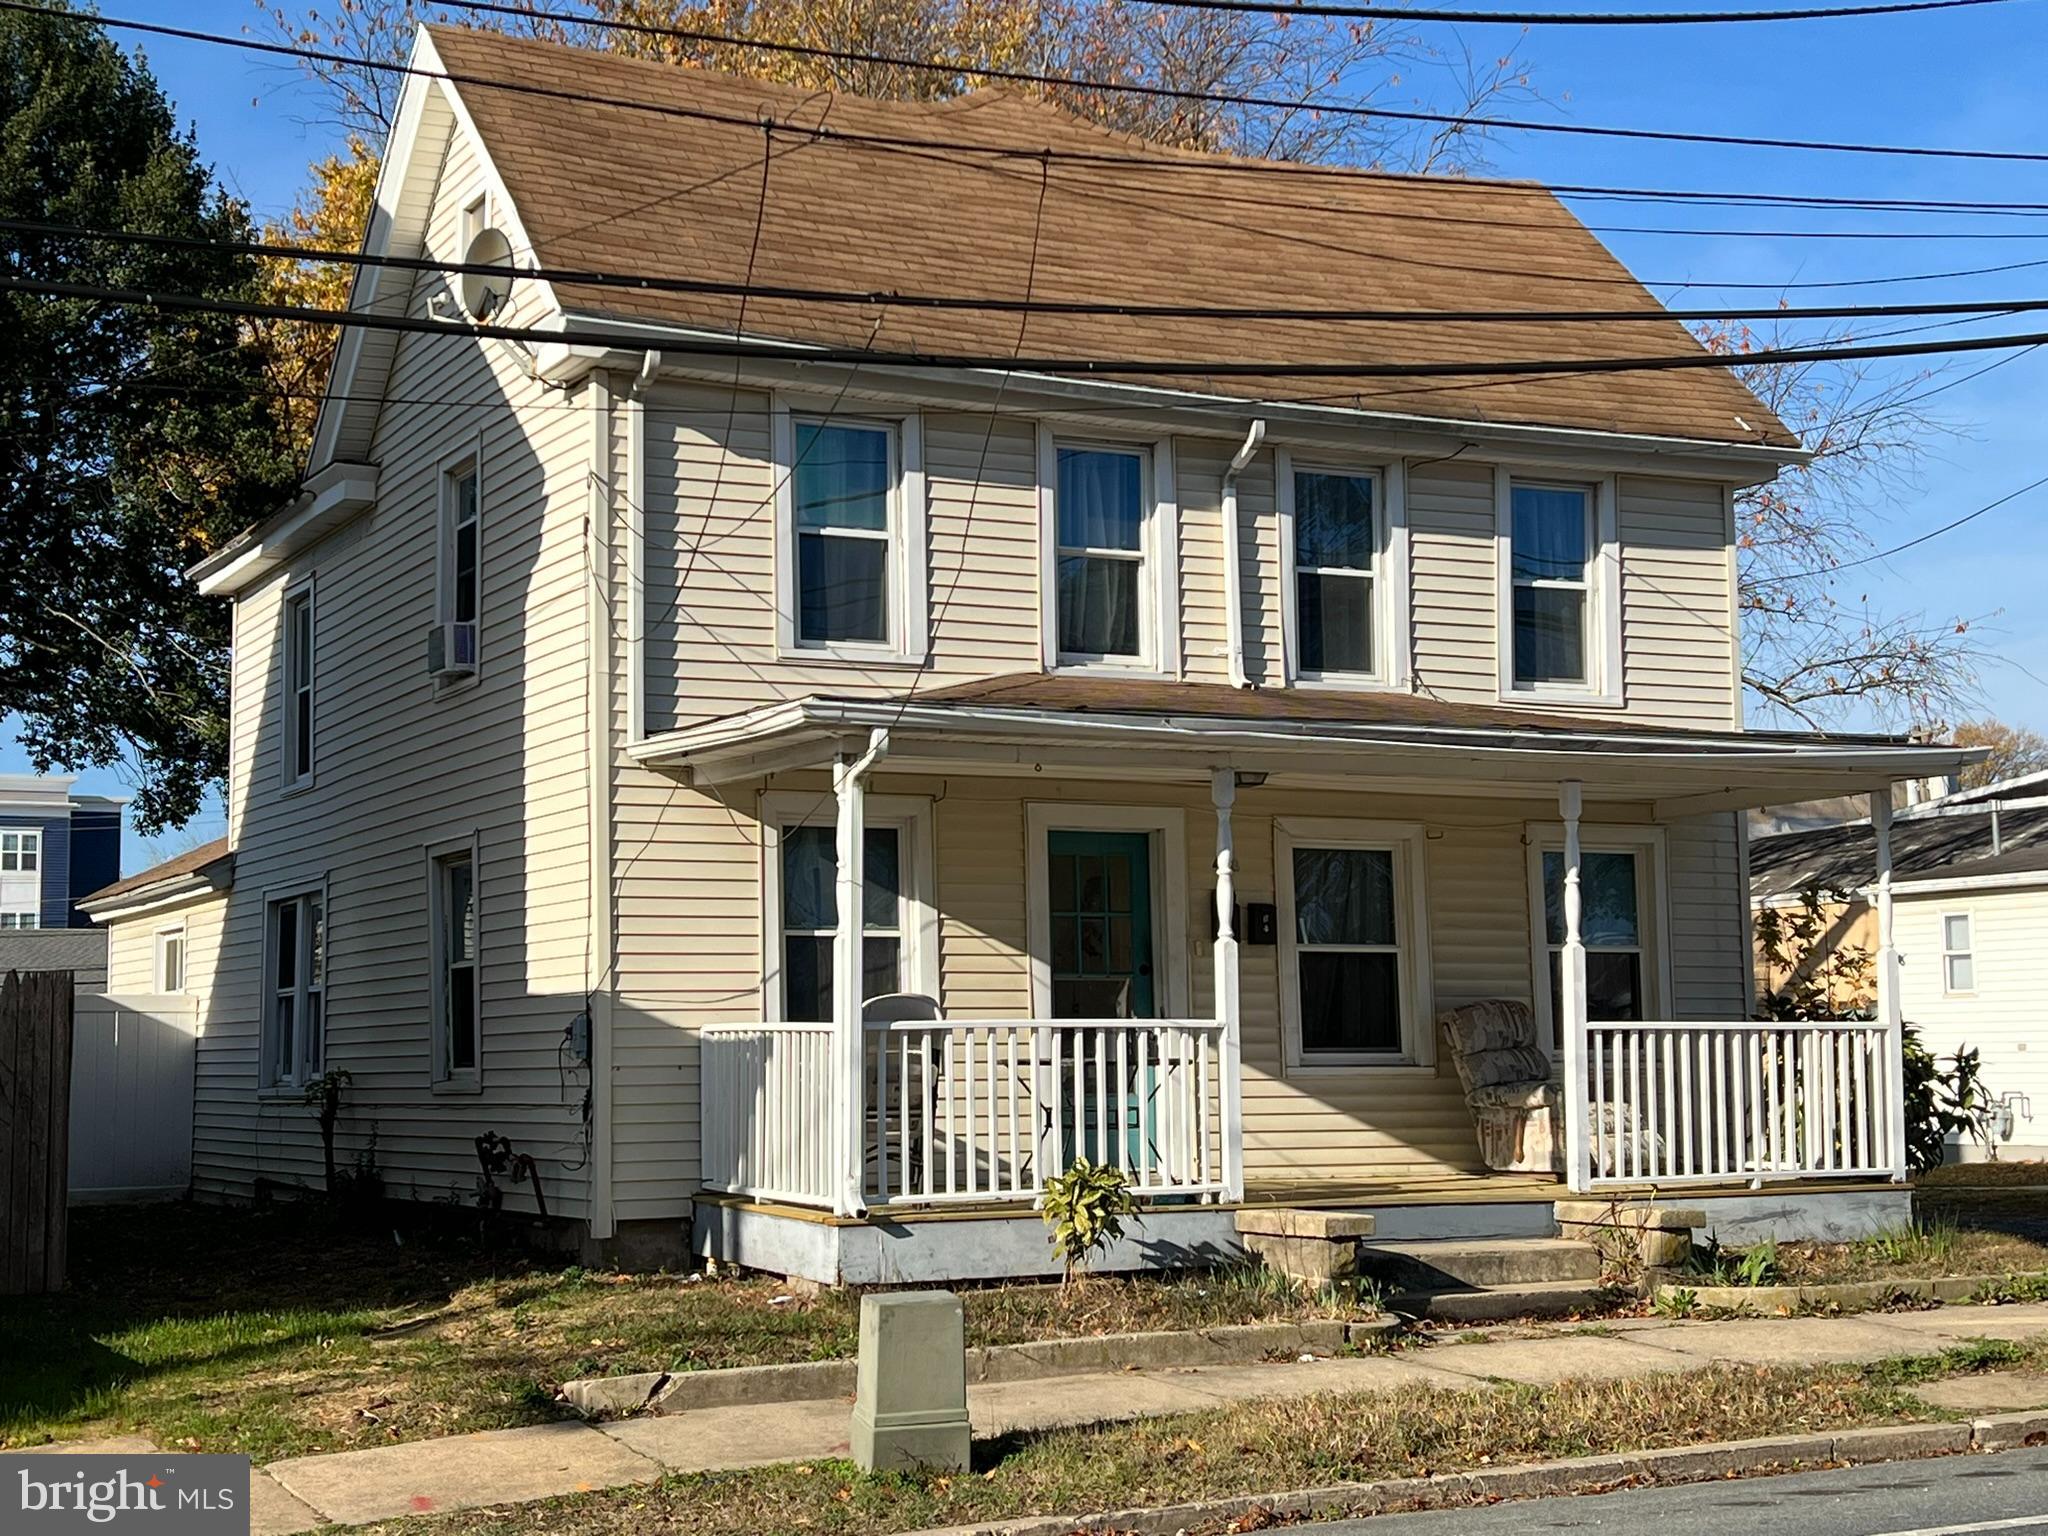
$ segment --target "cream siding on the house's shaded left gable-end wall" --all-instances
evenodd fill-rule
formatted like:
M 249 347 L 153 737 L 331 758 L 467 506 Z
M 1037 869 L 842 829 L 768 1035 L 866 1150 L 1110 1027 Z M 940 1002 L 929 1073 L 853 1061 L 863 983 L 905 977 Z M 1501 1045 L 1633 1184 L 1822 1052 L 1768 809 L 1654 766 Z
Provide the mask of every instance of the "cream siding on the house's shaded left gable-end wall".
M 428 225 L 457 254 L 477 166 L 457 135 Z M 440 279 L 422 274 L 410 313 Z M 516 295 L 510 322 L 535 317 Z M 248 1194 L 256 1178 L 317 1186 L 319 1133 L 295 1092 L 258 1096 L 264 893 L 326 877 L 326 1063 L 352 1075 L 338 1157 L 377 1128 L 397 1196 L 473 1198 L 473 1139 L 498 1130 L 543 1171 L 553 1212 L 582 1214 L 580 1100 L 557 1047 L 586 989 L 586 391 L 543 391 L 502 342 L 406 336 L 371 457 L 377 506 L 236 602 L 229 836 L 236 885 L 205 999 L 195 1186 Z M 424 401 L 424 403 L 408 403 Z M 479 401 L 477 406 L 446 401 Z M 442 465 L 481 451 L 481 674 L 436 688 Z M 315 575 L 315 782 L 281 795 L 279 618 L 287 584 Z M 477 838 L 483 1085 L 428 1087 L 426 848 Z M 508 1192 L 510 1208 L 530 1202 Z

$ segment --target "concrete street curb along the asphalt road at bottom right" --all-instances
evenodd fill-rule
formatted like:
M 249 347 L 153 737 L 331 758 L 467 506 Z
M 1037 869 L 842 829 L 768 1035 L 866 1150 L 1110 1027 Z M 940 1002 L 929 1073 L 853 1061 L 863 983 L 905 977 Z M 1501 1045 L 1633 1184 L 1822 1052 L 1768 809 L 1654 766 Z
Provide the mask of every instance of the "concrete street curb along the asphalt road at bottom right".
M 1755 1477 L 1796 1468 L 1853 1462 L 1913 1460 L 1962 1452 L 2017 1450 L 2048 1444 L 2048 1411 L 1995 1413 L 1954 1423 L 1892 1423 L 1837 1434 L 1731 1440 L 1712 1446 L 1636 1450 L 1610 1456 L 1487 1466 L 1470 1473 L 1403 1477 L 1386 1483 L 1333 1483 L 1292 1493 L 1253 1493 L 1233 1499 L 1202 1499 L 1159 1509 L 1112 1509 L 1092 1516 L 1024 1516 L 979 1526 L 944 1526 L 905 1536 L 1075 1536 L 1116 1532 L 1118 1536 L 1180 1536 L 1202 1522 L 1241 1520 L 1260 1513 L 1278 1520 L 1331 1520 L 1382 1516 L 1407 1509 L 1446 1509 L 1501 1499 L 1536 1499 L 1559 1493 L 1606 1493 L 1653 1483 L 1700 1483 L 1722 1477 Z

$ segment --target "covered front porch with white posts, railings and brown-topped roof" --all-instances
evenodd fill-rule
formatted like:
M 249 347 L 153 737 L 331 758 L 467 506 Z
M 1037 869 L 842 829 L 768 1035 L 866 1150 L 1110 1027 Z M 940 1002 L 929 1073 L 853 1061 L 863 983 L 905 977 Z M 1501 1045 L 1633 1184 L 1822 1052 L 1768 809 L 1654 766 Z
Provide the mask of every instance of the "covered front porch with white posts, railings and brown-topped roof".
M 1028 1212 L 1077 1157 L 1120 1167 L 1161 1217 L 1257 1200 L 1458 1204 L 1460 1192 L 1534 1208 L 1542 1190 L 1905 1174 L 1896 956 L 1886 944 L 1870 1022 L 1747 1018 L 1731 813 L 1866 793 L 1882 850 L 1890 782 L 1952 752 L 1307 690 L 1104 682 L 1077 694 L 1038 678 L 811 696 L 637 756 L 702 786 L 764 786 L 764 924 L 782 909 L 778 795 L 817 807 L 819 844 L 829 829 L 829 915 L 795 938 L 784 924 L 774 948 L 784 969 L 815 956 L 829 975 L 807 995 L 829 1008 L 803 1018 L 770 1006 L 770 989 L 760 1016 L 700 1030 L 702 1184 L 725 1206 L 879 1223 Z M 819 770 L 829 782 L 793 778 Z M 776 788 L 788 782 L 817 788 Z M 956 807 L 940 827 L 969 825 L 958 805 L 973 791 L 1008 805 L 1001 838 L 920 823 L 905 791 L 934 784 Z M 911 831 L 885 852 L 905 866 L 870 879 L 879 809 Z M 1700 827 L 1716 840 L 1708 874 Z M 915 883 L 913 846 L 938 870 L 930 911 L 879 940 L 877 887 Z M 1124 850 L 1151 879 L 1118 874 Z M 1632 948 L 1608 911 L 1630 850 L 1642 850 L 1628 864 L 1642 887 Z M 1354 852 L 1372 858 L 1335 858 Z M 1327 889 L 1296 889 L 1327 885 L 1331 868 L 1384 883 L 1386 932 L 1346 928 L 1366 897 L 1337 901 L 1339 922 Z M 963 915 L 971 901 L 942 899 L 987 905 L 977 881 L 1024 887 L 1014 938 L 979 905 Z M 1888 907 L 1882 891 L 1880 879 Z M 879 971 L 877 944 L 909 944 L 918 922 L 946 924 L 948 950 L 975 940 L 1016 961 L 1028 1006 L 977 1008 L 997 991 L 950 958 L 944 977 L 936 963 Z M 1141 930 L 1149 948 L 1133 948 Z M 938 948 L 936 932 L 928 942 Z M 1696 975 L 1708 967 L 1712 985 Z M 1489 1171 L 1470 1120 L 1462 1151 L 1442 1130 L 1442 1106 L 1475 1112 L 1440 1063 L 1436 1004 L 1491 997 L 1534 1018 L 1548 1057 L 1538 1098 L 1556 1155 L 1542 1167 Z M 1409 1016 L 1399 1038 L 1346 1034 L 1343 1020 L 1382 1004 Z M 1384 1147 L 1378 1161 L 1333 1157 L 1333 1124 L 1339 1141 Z

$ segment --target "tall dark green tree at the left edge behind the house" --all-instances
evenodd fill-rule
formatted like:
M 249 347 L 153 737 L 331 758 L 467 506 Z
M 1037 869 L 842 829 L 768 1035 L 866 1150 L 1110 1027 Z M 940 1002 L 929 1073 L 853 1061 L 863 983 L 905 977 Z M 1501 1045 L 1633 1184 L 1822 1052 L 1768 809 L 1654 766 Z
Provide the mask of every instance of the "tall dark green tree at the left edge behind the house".
M 0 16 L 8 219 L 248 240 L 147 68 L 84 16 Z M 254 291 L 215 250 L 0 233 L 23 279 Z M 293 477 L 262 348 L 221 315 L 0 293 L 0 713 L 39 768 L 127 762 L 143 831 L 227 750 L 227 614 L 180 571 Z

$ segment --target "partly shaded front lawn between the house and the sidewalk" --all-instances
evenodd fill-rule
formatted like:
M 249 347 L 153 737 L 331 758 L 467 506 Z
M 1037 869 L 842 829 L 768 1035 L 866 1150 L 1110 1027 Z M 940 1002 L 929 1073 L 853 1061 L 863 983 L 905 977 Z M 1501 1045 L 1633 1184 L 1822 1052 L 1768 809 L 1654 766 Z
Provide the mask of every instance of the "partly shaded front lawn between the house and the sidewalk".
M 319 1206 L 84 1208 L 72 1288 L 0 1298 L 0 1446 L 139 1430 L 258 1462 L 565 1417 L 629 1370 L 827 1360 L 858 1296 L 621 1276 Z M 1366 1315 L 1243 1272 L 965 1290 L 971 1343 Z

